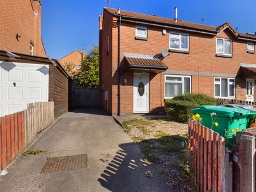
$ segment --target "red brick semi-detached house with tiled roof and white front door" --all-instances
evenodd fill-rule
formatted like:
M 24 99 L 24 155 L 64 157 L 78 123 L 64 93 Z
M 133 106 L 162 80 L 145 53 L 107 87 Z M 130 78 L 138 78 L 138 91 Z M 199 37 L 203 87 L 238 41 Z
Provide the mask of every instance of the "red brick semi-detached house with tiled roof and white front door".
M 256 35 L 104 8 L 100 98 L 110 114 L 149 113 L 180 93 L 255 100 Z

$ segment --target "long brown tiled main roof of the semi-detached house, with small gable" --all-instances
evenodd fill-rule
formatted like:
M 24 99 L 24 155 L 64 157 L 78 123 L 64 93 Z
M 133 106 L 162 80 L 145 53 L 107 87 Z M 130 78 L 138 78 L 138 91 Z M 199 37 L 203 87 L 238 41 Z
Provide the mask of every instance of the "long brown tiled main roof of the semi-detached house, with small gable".
M 116 15 L 116 16 L 122 16 L 122 17 L 127 17 L 129 19 L 133 20 L 145 20 L 147 22 L 157 22 L 161 24 L 166 24 L 170 26 L 175 26 L 177 28 L 192 28 L 195 30 L 202 30 L 202 31 L 211 31 L 212 33 L 218 33 L 221 29 L 227 27 L 229 28 L 237 38 L 252 38 L 253 40 L 256 40 L 256 35 L 249 34 L 249 33 L 239 33 L 234 29 L 229 22 L 226 22 L 225 24 L 222 24 L 219 27 L 216 26 L 206 26 L 202 24 L 196 24 L 192 22 L 185 22 L 183 20 L 177 20 L 175 22 L 174 19 L 168 19 L 164 17 L 158 17 L 156 15 L 145 15 L 141 13 L 135 13 L 135 12 L 128 12 L 124 10 L 120 10 L 120 14 L 118 14 L 118 10 L 114 8 L 104 8 L 104 10 L 108 11 L 109 13 Z

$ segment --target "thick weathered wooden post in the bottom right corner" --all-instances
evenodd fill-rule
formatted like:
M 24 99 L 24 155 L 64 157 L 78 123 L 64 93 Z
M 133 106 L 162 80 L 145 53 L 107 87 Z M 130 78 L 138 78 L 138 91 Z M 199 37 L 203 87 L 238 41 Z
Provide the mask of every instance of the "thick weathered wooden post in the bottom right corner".
M 255 191 L 255 138 L 241 135 L 239 148 L 240 191 Z

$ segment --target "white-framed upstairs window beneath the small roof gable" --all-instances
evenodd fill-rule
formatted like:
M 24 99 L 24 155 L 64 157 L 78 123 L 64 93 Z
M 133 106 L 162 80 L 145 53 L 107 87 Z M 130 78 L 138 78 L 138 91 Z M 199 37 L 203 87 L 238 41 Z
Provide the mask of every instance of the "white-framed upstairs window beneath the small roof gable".
M 225 38 L 216 38 L 216 54 L 232 55 L 232 41 Z

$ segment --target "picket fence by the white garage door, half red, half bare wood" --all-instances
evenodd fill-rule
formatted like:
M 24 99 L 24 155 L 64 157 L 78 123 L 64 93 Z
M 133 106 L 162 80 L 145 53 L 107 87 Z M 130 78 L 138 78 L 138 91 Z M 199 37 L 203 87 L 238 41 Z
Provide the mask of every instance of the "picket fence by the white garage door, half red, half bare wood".
M 31 106 L 31 104 L 29 104 Z M 1 117 L 0 171 L 35 140 L 36 134 L 54 123 L 54 103 L 36 102 L 19 113 Z

